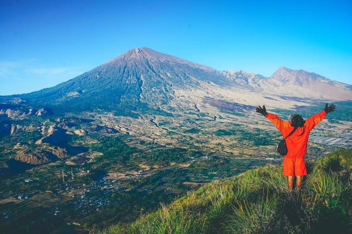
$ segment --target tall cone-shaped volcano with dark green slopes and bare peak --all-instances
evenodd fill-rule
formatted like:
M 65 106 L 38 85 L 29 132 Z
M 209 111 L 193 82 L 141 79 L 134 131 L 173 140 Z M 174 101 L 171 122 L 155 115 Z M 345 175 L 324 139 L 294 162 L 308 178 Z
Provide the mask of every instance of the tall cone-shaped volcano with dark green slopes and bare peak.
M 173 87 L 199 87 L 201 81 L 220 86 L 228 83 L 213 68 L 144 47 L 131 49 L 55 87 L 18 96 L 30 103 L 81 110 L 141 103 L 159 106 L 172 99 Z

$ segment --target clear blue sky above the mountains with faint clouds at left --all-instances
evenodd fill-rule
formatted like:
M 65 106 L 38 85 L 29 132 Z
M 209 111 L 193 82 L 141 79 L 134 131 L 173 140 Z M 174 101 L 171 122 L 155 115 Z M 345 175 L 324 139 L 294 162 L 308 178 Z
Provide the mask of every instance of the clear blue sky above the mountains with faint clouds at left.
M 0 1 L 0 95 L 54 86 L 128 49 L 218 70 L 352 83 L 351 1 Z

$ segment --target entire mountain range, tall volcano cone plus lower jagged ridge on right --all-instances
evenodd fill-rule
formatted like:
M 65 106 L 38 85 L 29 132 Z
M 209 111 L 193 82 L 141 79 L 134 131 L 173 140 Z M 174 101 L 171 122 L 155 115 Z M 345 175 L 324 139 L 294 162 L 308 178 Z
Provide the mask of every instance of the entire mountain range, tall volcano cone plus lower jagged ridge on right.
M 177 101 L 186 106 L 200 95 L 257 105 L 263 94 L 275 96 L 270 100 L 287 100 L 287 97 L 352 100 L 351 85 L 315 73 L 280 67 L 268 78 L 244 71 L 216 71 L 142 47 L 131 49 L 55 87 L 0 96 L 0 101 L 10 100 L 11 103 L 25 103 L 34 109 L 47 108 L 55 112 L 102 109 L 126 114 L 163 109 L 176 96 L 181 97 Z

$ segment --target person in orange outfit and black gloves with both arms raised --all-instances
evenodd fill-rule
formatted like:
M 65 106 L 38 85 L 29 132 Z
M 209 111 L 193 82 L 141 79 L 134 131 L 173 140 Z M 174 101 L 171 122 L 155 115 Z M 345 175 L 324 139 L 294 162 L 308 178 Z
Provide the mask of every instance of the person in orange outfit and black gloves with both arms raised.
M 325 118 L 326 114 L 335 110 L 335 105 L 328 106 L 318 114 L 310 116 L 307 120 L 303 120 L 301 115 L 291 115 L 291 121 L 284 121 L 277 115 L 266 112 L 265 106 L 257 107 L 256 112 L 264 115 L 267 119 L 274 123 L 285 138 L 294 129 L 285 141 L 288 153 L 283 159 L 283 175 L 287 176 L 287 186 L 289 190 L 293 187 L 293 175 L 296 176 L 296 189 L 298 190 L 302 184 L 302 176 L 307 175 L 306 165 L 304 163 L 304 155 L 307 153 L 307 141 L 309 132 Z

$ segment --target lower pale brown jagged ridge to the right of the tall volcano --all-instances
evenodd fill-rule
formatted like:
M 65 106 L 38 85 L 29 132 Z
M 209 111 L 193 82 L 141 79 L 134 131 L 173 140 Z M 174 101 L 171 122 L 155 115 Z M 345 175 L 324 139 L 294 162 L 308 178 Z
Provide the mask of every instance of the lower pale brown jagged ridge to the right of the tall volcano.
M 322 100 L 351 100 L 351 85 L 304 70 L 279 67 L 269 78 L 244 71 L 222 71 L 236 85 L 266 94 Z

